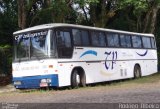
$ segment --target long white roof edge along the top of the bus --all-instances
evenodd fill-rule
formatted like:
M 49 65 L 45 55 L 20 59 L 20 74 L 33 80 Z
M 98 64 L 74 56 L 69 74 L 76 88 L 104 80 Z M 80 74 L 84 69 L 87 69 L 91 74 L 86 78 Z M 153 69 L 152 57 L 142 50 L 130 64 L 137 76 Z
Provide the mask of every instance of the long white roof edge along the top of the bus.
M 14 32 L 13 34 L 20 34 L 26 33 L 29 31 L 41 30 L 41 29 L 50 29 L 54 27 L 75 27 L 75 28 L 83 28 L 83 29 L 91 29 L 91 30 L 100 30 L 106 32 L 116 32 L 116 33 L 124 33 L 124 34 L 133 34 L 133 35 L 143 35 L 143 36 L 151 36 L 154 37 L 153 34 L 146 34 L 146 33 L 136 33 L 136 32 L 128 32 L 128 31 L 121 31 L 121 30 L 114 30 L 114 29 L 105 29 L 105 28 L 98 28 L 98 27 L 90 27 L 90 26 L 83 26 L 83 25 L 75 25 L 75 24 L 65 24 L 65 23 L 51 23 L 51 24 L 43 24 L 37 25 L 34 27 L 26 28 L 23 30 L 19 30 Z

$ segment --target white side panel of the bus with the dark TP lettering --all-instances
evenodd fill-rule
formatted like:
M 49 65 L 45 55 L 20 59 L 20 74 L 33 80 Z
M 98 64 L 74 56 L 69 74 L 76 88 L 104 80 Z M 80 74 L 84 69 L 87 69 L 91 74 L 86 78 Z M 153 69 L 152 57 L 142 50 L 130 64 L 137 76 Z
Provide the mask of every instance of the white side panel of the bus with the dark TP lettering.
M 72 70 L 81 67 L 86 73 L 86 83 L 111 81 L 134 77 L 134 66 L 140 65 L 142 76 L 157 72 L 156 50 L 148 50 L 145 56 L 137 53 L 144 53 L 139 49 L 112 49 L 112 48 L 89 48 L 74 49 L 72 59 L 59 59 L 60 86 L 70 85 Z M 82 55 L 86 51 L 96 52 Z M 108 52 L 108 55 L 106 54 Z M 117 56 L 116 56 L 117 55 Z M 71 61 L 72 60 L 72 61 Z M 62 79 L 63 78 L 63 79 Z M 64 82 L 65 81 L 65 82 Z

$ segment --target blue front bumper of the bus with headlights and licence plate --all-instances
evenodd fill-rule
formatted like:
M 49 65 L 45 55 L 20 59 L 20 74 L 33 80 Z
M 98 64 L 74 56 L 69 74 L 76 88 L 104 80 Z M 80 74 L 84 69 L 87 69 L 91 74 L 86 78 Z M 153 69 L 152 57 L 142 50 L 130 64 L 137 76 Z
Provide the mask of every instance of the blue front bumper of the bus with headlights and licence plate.
M 30 77 L 13 77 L 13 84 L 17 89 L 36 89 L 52 86 L 58 87 L 58 74 Z

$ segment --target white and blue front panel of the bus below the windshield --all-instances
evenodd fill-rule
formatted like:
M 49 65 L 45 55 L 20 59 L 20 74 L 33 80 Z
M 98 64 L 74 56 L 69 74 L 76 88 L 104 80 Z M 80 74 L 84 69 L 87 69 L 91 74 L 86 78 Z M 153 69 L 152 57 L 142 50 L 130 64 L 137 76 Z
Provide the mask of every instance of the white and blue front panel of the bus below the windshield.
M 43 79 L 49 81 L 49 86 L 59 86 L 55 59 L 16 62 L 12 67 L 13 83 L 16 88 L 40 88 Z

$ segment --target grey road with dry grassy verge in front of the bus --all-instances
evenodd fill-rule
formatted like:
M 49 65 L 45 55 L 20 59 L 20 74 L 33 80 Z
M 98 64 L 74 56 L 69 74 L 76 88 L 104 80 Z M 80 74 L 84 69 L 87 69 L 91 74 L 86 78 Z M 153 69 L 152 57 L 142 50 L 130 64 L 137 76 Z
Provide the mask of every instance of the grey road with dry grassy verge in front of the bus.
M 160 81 L 0 94 L 1 103 L 160 103 Z M 47 105 L 49 106 L 49 105 Z M 159 104 L 160 108 L 160 104 Z

